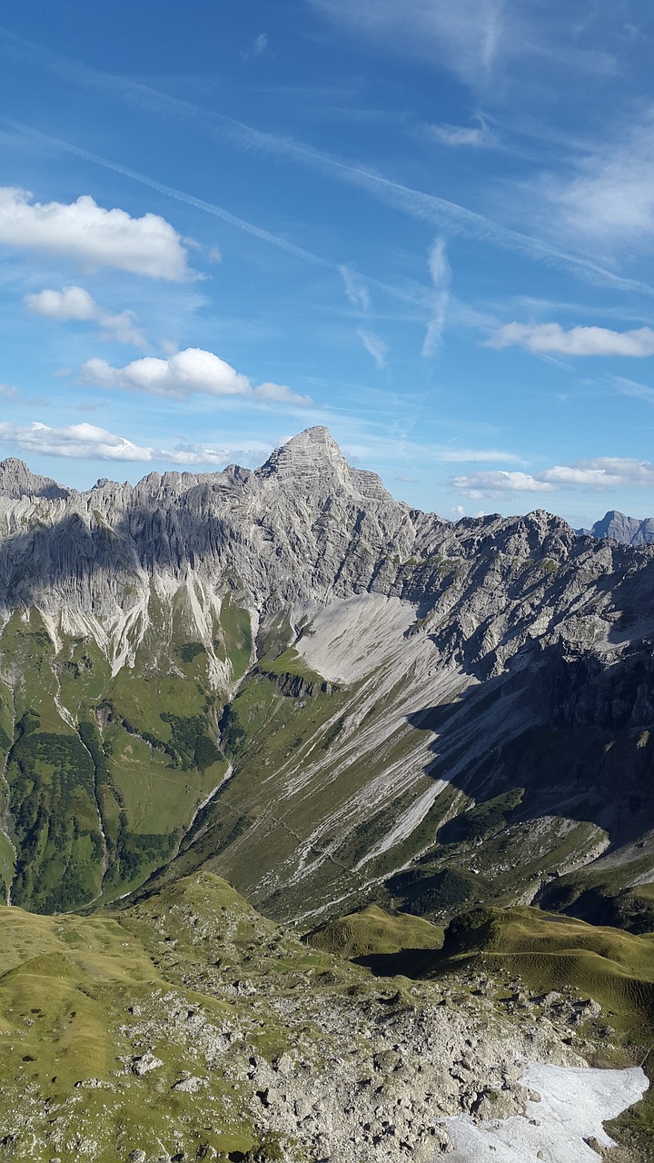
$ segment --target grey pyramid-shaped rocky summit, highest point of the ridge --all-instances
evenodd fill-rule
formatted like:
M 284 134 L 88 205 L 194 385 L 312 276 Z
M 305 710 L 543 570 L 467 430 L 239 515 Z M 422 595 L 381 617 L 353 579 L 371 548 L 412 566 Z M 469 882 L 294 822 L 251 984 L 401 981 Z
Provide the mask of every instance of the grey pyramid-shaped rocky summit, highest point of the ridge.
M 377 473 L 350 468 L 324 424 L 305 428 L 276 448 L 256 476 L 279 483 L 292 480 L 299 490 L 317 495 L 340 486 L 361 497 L 391 499 Z

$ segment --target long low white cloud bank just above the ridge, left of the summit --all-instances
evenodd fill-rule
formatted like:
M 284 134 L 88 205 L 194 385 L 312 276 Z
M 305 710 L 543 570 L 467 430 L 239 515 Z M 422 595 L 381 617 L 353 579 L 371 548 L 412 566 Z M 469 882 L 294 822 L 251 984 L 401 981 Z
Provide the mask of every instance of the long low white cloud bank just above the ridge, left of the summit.
M 175 449 L 150 448 L 135 444 L 125 436 L 116 436 L 106 428 L 88 423 L 49 428 L 42 423 L 21 427 L 0 422 L 0 441 L 12 444 L 21 452 L 41 456 L 144 463 L 163 461 L 180 466 L 206 464 L 218 468 L 237 457 L 260 463 L 262 456 L 268 456 L 272 450 L 272 443 L 264 444 L 261 441 L 241 441 L 213 448 L 196 444 L 179 444 Z

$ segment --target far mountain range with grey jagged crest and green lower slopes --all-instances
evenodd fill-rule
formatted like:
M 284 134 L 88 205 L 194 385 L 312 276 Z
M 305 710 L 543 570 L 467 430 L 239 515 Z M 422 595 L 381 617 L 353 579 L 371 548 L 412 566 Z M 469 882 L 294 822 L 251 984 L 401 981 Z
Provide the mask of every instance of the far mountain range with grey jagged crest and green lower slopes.
M 0 534 L 12 902 L 206 866 L 306 927 L 534 899 L 654 927 L 654 547 L 421 513 L 325 428 L 135 487 L 5 461 Z

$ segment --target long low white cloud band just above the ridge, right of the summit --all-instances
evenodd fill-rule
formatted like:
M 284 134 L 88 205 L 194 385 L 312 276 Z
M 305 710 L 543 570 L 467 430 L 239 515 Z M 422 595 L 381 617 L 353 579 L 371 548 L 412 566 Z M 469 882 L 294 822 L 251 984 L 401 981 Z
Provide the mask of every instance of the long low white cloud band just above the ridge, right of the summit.
M 455 488 L 471 498 L 504 497 L 514 492 L 554 492 L 557 488 L 654 488 L 654 464 L 630 457 L 600 456 L 574 464 L 556 464 L 534 476 L 526 472 L 474 472 L 455 477 Z

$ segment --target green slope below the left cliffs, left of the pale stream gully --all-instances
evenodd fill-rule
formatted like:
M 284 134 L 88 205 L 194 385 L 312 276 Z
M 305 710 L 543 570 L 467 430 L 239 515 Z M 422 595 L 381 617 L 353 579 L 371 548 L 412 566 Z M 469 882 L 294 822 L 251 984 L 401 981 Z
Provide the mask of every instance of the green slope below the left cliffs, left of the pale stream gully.
M 165 612 L 154 595 L 151 607 L 158 622 L 115 678 L 92 641 L 64 637 L 56 650 L 35 609 L 0 635 L 0 766 L 10 752 L 0 813 L 8 793 L 16 904 L 61 911 L 143 883 L 225 776 L 214 742 L 223 700 L 192 638 L 189 602 L 182 595 Z M 227 599 L 213 635 L 225 672 L 240 676 L 251 652 L 247 611 Z M 2 896 L 13 865 L 0 834 Z

